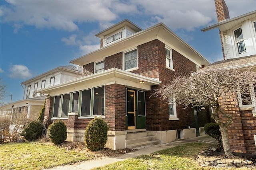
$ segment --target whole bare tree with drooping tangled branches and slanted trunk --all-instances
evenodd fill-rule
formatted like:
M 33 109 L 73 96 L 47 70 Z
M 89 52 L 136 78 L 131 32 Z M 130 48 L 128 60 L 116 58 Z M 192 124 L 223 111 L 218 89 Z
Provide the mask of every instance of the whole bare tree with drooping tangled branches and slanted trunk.
M 242 102 L 251 102 L 251 93 L 254 93 L 256 73 L 250 69 L 222 69 L 213 68 L 193 73 L 191 76 L 180 76 L 170 85 L 165 85 L 154 92 L 162 99 L 168 99 L 169 104 L 187 107 L 211 106 L 211 117 L 220 126 L 223 149 L 227 156 L 232 156 L 228 139 L 227 127 L 232 124 L 233 117 L 228 114 L 220 102 L 223 96 L 241 94 Z M 223 104 L 223 103 L 222 103 Z M 221 116 L 220 116 L 221 115 Z M 224 117 L 224 119 L 222 119 Z

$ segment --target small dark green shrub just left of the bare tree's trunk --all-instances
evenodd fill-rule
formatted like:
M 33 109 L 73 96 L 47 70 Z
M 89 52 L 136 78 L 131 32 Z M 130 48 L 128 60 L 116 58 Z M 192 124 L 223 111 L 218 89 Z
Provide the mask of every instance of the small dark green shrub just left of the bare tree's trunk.
M 204 125 L 205 133 L 208 134 L 210 137 L 217 139 L 218 144 L 220 145 L 220 147 L 222 147 L 222 139 L 219 129 L 220 126 L 217 123 L 207 123 L 206 125 Z

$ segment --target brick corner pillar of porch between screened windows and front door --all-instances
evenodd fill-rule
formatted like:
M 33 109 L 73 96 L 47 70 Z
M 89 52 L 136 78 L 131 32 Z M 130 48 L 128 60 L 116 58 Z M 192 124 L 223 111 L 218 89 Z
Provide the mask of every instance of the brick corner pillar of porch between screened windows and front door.
M 126 89 L 120 84 L 105 86 L 105 121 L 110 131 L 126 130 Z

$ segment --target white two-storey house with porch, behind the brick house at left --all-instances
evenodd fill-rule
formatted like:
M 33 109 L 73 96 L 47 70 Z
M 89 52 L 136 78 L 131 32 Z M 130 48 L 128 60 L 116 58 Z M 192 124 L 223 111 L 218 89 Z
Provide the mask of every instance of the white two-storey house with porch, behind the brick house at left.
M 0 106 L 1 116 L 10 115 L 12 122 L 19 118 L 37 119 L 47 94 L 36 93 L 36 90 L 68 82 L 81 76 L 81 67 L 77 68 L 76 66 L 69 65 L 59 66 L 39 76 L 26 80 L 21 83 L 24 88 L 23 100 Z

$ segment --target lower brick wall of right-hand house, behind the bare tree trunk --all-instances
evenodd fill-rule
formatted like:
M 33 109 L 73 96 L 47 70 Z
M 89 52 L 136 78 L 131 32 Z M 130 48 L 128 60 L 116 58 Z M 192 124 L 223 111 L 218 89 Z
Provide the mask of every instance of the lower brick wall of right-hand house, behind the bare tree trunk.
M 239 111 L 237 94 L 225 94 L 219 98 L 222 111 L 231 115 L 233 124 L 228 127 L 229 142 L 232 152 L 256 153 L 254 134 L 256 134 L 256 117 L 252 111 Z M 221 113 L 223 122 L 227 120 Z

